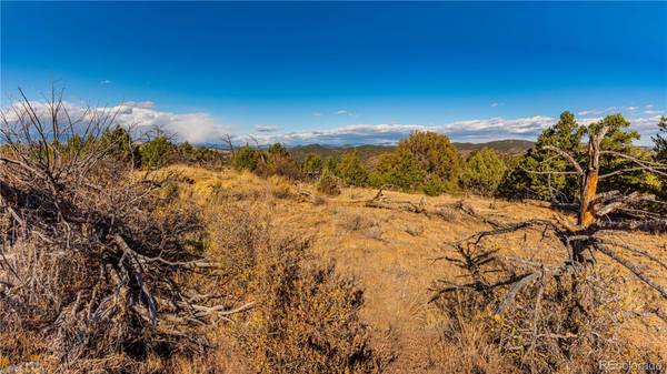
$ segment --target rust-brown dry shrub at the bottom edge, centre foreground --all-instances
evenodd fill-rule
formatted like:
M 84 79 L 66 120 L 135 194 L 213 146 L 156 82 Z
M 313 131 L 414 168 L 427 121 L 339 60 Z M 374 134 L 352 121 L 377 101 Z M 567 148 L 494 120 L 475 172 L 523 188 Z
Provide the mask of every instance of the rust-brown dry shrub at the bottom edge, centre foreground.
M 257 269 L 261 297 L 248 328 L 237 331 L 260 373 L 380 372 L 384 360 L 359 317 L 364 292 L 355 281 L 303 264 L 307 242 L 287 240 Z

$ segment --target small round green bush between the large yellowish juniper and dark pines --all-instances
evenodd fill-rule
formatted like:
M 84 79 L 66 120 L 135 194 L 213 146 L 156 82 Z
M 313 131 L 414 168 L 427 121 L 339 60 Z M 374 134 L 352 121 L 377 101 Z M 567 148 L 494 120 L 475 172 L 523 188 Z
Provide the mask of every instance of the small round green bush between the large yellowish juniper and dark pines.
M 507 165 L 502 159 L 494 150 L 485 148 L 468 156 L 461 171 L 460 184 L 466 191 L 491 196 L 498 190 L 506 171 Z

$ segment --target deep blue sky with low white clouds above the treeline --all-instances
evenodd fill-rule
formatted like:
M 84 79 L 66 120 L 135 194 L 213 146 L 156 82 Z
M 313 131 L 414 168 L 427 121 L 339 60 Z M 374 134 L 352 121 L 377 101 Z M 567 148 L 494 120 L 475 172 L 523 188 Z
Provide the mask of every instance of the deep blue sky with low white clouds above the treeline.
M 288 143 L 534 138 L 563 110 L 647 137 L 667 110 L 666 2 L 1 2 L 2 104 L 79 107 Z M 119 107 L 120 108 L 120 107 Z

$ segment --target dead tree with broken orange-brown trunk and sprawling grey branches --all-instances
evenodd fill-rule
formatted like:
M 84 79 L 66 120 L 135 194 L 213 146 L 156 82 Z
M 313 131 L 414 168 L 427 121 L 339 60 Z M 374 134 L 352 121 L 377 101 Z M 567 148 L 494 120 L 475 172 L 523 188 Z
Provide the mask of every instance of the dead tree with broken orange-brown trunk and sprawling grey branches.
M 600 180 L 633 171 L 667 175 L 667 165 L 605 149 L 604 140 L 613 131 L 610 127 L 596 124 L 589 130 L 584 154 L 570 154 L 556 146 L 544 148 L 566 160 L 573 171 L 539 172 L 578 176 L 576 223 L 558 213 L 554 220 L 500 223 L 450 243 L 455 255 L 440 257 L 460 267 L 469 282 L 441 280 L 434 289 L 431 301 L 447 313 L 460 311 L 462 303 L 464 314 L 484 310 L 495 315 L 489 331 L 496 334 L 495 340 L 502 350 L 520 353 L 516 356 L 517 363 L 527 371 L 554 371 L 558 363 L 585 356 L 586 350 L 597 355 L 623 351 L 613 348 L 618 345 L 613 330 L 618 325 L 616 317 L 621 311 L 608 307 L 618 301 L 616 274 L 600 273 L 596 254 L 601 253 L 625 267 L 663 301 L 667 300 L 667 285 L 660 284 L 656 275 L 667 271 L 667 259 L 631 245 L 618 235 L 619 231 L 628 230 L 666 232 L 665 216 L 637 205 L 659 202 L 653 195 L 638 192 L 598 193 Z M 601 174 L 600 164 L 610 156 L 627 160 L 633 165 Z M 618 212 L 631 214 L 615 215 Z M 563 250 L 563 259 L 547 262 L 539 256 L 512 256 L 502 253 L 497 245 L 497 240 L 509 240 L 512 235 L 511 240 L 519 242 L 522 235 L 525 242 L 531 232 L 550 245 L 557 243 L 554 250 Z M 653 263 L 656 270 L 648 271 L 634 260 L 637 256 Z M 605 312 L 600 313 L 603 309 Z M 656 315 L 665 315 L 657 306 L 655 311 Z M 595 354 L 581 360 L 591 362 Z

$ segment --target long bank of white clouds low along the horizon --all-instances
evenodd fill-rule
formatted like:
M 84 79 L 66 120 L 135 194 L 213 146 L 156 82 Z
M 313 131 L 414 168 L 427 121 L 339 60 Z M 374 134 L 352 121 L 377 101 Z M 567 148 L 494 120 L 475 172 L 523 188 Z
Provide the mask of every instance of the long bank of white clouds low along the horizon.
M 43 102 L 31 102 L 38 114 L 48 118 L 47 107 Z M 153 125 L 161 125 L 165 130 L 177 134 L 179 140 L 191 143 L 219 143 L 220 139 L 231 133 L 231 129 L 206 112 L 175 113 L 155 109 L 151 101 L 127 102 L 112 108 L 86 108 L 66 102 L 64 108 L 71 118 L 81 118 L 90 113 L 100 114 L 104 111 L 116 113 L 115 123 L 122 127 L 136 127 L 146 131 Z M 87 114 L 88 113 L 88 114 Z M 650 135 L 657 132 L 659 114 L 663 111 L 644 111 L 646 117 L 629 117 L 633 129 L 643 134 L 643 143 L 650 144 Z M 8 120 L 12 120 L 11 112 Z M 603 115 L 579 118 L 580 124 L 599 121 Z M 16 115 L 14 115 L 16 120 Z M 482 142 L 499 139 L 535 140 L 546 128 L 552 125 L 557 119 L 546 115 L 534 115 L 516 119 L 489 118 L 455 121 L 442 124 L 405 124 L 405 123 L 354 123 L 332 129 L 310 129 L 306 131 L 283 132 L 276 125 L 257 124 L 257 140 L 261 144 L 283 142 L 287 144 L 396 144 L 412 131 L 435 131 L 447 134 L 454 141 Z M 233 139 L 242 142 L 245 133 L 237 133 Z

